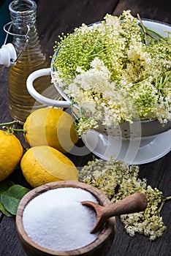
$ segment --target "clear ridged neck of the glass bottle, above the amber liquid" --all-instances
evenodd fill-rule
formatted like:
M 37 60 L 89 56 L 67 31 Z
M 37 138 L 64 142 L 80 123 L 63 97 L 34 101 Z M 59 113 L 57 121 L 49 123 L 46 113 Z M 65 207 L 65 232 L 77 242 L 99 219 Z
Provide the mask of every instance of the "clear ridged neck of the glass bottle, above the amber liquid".
M 37 4 L 33 0 L 14 0 L 9 4 L 9 12 L 12 19 L 13 45 L 17 54 L 23 50 L 18 62 L 22 62 L 23 59 L 30 58 L 31 55 L 37 56 L 37 58 L 44 61 L 45 54 L 42 52 L 42 48 L 39 42 L 39 36 L 37 32 Z M 28 30 L 29 27 L 29 30 Z M 28 45 L 26 45 L 26 35 L 28 33 Z

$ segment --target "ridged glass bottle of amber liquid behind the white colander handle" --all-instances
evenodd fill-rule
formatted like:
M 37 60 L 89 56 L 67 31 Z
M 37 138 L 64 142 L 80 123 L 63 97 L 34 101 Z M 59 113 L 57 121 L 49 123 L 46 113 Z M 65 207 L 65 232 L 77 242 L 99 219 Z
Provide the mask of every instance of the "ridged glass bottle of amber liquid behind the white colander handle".
M 28 94 L 26 80 L 31 72 L 37 69 L 50 67 L 50 61 L 42 52 L 37 33 L 37 4 L 32 0 L 15 0 L 9 4 L 9 13 L 12 20 L 12 29 L 15 37 L 13 45 L 17 55 L 20 55 L 15 66 L 9 70 L 9 112 L 15 120 L 23 123 L 32 110 L 45 107 Z M 28 44 L 26 37 L 28 34 Z M 50 86 L 50 76 L 44 76 L 35 80 L 34 87 L 47 97 L 57 99 L 58 95 Z M 47 95 L 48 94 L 48 95 Z M 56 97 L 54 97 L 56 95 Z

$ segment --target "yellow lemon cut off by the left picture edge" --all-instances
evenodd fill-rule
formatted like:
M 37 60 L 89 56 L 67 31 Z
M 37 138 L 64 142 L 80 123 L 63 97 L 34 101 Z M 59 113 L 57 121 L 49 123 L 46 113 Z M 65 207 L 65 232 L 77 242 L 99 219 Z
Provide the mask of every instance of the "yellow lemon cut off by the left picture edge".
M 12 133 L 0 130 L 0 181 L 4 181 L 15 170 L 22 155 L 20 140 Z

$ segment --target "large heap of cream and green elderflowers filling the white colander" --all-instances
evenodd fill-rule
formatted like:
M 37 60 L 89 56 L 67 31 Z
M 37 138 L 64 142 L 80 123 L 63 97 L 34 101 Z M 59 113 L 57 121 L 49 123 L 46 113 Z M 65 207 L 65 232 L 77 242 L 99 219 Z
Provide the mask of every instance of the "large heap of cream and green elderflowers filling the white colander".
M 53 81 L 79 105 L 80 134 L 99 121 L 107 127 L 135 118 L 171 121 L 171 37 L 144 36 L 137 18 L 123 11 L 56 42 Z

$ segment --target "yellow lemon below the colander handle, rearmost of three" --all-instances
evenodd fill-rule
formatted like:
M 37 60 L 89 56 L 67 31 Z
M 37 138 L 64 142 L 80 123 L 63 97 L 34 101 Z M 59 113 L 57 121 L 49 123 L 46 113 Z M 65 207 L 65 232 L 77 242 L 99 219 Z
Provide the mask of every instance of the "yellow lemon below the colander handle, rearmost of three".
M 26 142 L 32 146 L 52 146 L 62 153 L 69 152 L 77 143 L 72 116 L 57 108 L 40 108 L 26 119 Z

